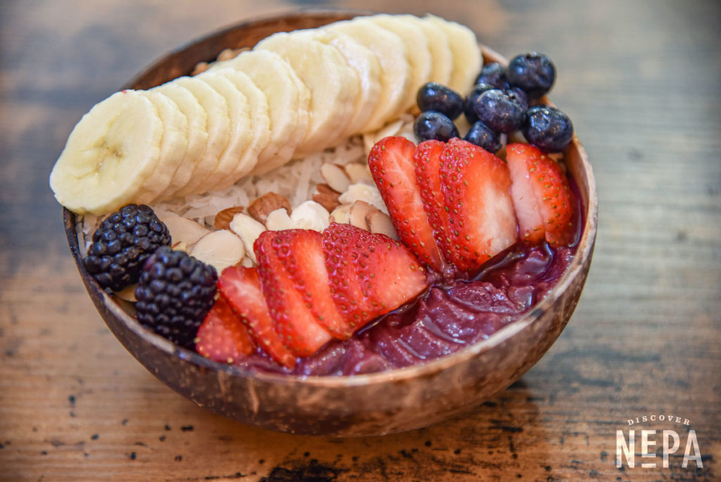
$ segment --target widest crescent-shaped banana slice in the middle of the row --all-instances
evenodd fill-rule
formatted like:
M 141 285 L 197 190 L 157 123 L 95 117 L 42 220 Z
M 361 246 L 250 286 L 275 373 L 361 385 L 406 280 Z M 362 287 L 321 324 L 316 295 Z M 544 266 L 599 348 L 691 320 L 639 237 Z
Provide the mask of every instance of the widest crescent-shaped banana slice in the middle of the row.
M 311 92 L 308 132 L 295 155 L 322 151 L 340 141 L 360 91 L 358 74 L 340 51 L 293 32 L 270 35 L 254 50 L 272 51 L 285 58 Z

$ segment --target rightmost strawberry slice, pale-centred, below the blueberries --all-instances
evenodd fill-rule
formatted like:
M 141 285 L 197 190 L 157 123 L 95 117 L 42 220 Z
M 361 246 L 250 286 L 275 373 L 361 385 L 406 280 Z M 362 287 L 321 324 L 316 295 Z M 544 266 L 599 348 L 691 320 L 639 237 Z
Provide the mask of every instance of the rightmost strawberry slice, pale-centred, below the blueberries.
M 572 242 L 574 194 L 558 163 L 530 144 L 508 144 L 506 158 L 521 239 L 554 247 Z

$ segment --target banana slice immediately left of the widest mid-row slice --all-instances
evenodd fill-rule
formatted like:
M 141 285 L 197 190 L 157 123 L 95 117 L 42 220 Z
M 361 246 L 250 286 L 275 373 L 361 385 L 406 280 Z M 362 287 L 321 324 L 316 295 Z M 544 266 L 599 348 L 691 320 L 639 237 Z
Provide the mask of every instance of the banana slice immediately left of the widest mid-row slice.
M 231 68 L 242 71 L 259 87 L 268 102 L 270 141 L 258 154 L 251 174 L 265 174 L 291 160 L 304 139 L 310 122 L 310 91 L 283 57 L 270 51 L 246 51 L 211 71 Z

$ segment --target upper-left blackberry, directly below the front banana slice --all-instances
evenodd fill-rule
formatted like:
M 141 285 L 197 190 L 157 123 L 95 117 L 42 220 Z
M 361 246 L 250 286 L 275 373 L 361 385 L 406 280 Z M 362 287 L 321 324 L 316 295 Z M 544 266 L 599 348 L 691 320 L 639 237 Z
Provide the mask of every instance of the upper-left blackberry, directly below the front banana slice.
M 83 263 L 100 286 L 118 292 L 137 283 L 145 260 L 169 245 L 170 232 L 153 210 L 128 204 L 100 223 Z

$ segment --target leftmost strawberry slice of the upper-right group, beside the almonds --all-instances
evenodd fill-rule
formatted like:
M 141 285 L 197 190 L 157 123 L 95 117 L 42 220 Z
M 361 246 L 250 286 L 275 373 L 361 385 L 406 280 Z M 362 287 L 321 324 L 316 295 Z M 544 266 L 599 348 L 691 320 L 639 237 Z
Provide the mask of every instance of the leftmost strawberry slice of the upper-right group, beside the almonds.
M 423 209 L 423 198 L 415 180 L 413 154 L 415 144 L 408 139 L 386 137 L 371 149 L 368 167 L 401 240 L 423 263 L 441 271 L 441 252 Z

